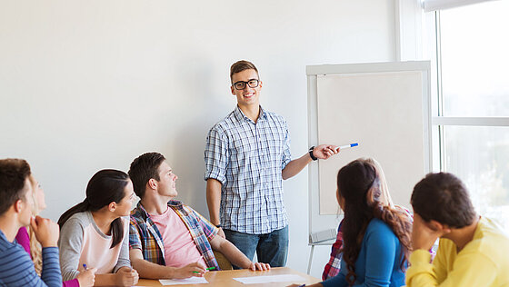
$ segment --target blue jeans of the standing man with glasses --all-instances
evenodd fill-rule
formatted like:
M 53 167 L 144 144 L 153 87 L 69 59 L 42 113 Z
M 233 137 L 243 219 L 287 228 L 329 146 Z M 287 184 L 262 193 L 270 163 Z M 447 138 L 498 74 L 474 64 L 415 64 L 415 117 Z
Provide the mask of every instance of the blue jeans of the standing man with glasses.
M 257 255 L 258 262 L 269 263 L 271 267 L 284 267 L 288 255 L 288 226 L 272 233 L 247 234 L 225 229 L 226 239 L 249 258 Z M 234 269 L 240 269 L 234 266 Z

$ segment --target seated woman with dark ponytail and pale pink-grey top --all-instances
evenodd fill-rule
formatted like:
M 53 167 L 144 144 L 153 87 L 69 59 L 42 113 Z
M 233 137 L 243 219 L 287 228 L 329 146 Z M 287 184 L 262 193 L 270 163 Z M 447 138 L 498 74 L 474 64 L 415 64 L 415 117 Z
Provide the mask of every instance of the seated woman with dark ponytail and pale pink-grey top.
M 131 286 L 138 273 L 129 262 L 128 218 L 133 183 L 121 171 L 102 170 L 86 186 L 86 198 L 66 211 L 61 228 L 60 265 L 64 280 L 96 268 L 95 286 Z

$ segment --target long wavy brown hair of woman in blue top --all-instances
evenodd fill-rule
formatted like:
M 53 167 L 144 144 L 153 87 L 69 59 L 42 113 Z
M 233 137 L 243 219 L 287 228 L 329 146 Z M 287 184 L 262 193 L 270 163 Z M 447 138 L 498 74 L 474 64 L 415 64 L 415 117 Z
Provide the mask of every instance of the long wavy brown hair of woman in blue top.
M 401 243 L 400 269 L 411 250 L 412 223 L 408 214 L 384 203 L 381 181 L 373 162 L 357 159 L 337 173 L 337 188 L 344 198 L 343 259 L 347 266 L 346 282 L 356 279 L 355 262 L 361 251 L 367 225 L 377 218 L 386 223 Z

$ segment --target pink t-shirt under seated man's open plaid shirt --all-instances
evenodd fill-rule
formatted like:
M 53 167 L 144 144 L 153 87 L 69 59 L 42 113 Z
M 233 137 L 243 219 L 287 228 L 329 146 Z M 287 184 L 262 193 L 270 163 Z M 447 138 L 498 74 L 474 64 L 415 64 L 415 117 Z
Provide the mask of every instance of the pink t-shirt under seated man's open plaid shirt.
M 187 226 L 172 208 L 168 207 L 163 214 L 150 214 L 150 218 L 163 236 L 166 266 L 183 267 L 192 262 L 200 262 L 206 267 L 204 257 Z

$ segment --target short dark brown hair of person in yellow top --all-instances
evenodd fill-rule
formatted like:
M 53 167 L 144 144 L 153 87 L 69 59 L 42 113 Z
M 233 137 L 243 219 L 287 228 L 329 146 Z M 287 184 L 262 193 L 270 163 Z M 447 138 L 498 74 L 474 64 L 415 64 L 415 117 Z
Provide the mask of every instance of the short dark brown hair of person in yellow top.
M 474 223 L 476 216 L 464 183 L 453 173 L 428 173 L 415 184 L 410 203 L 425 222 L 434 220 L 453 228 Z

